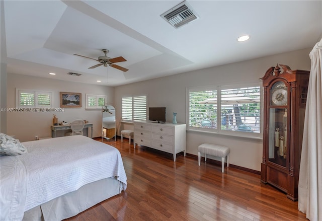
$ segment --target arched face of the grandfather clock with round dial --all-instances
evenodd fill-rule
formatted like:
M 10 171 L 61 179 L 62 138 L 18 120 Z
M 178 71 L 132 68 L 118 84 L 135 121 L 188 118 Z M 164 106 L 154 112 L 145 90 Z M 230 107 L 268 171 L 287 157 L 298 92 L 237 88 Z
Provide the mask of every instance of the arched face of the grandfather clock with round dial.
M 287 106 L 287 87 L 284 82 L 276 82 L 271 89 L 271 106 Z

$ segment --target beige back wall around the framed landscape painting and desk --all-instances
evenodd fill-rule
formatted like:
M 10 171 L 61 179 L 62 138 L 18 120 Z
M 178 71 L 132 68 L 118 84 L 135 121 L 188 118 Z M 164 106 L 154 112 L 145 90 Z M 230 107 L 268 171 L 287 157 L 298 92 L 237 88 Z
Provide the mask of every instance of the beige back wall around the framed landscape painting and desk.
M 15 135 L 21 141 L 34 140 L 39 137 L 51 136 L 53 114 L 58 117 L 58 122 L 71 122 L 75 119 L 86 119 L 94 124 L 93 136 L 101 136 L 102 111 L 86 110 L 86 94 L 107 95 L 108 102 L 114 101 L 114 88 L 90 84 L 79 84 L 59 81 L 48 78 L 8 73 L 7 80 L 7 107 L 15 107 L 15 89 L 33 89 L 53 92 L 53 107 L 59 108 L 59 92 L 82 93 L 82 108 L 64 108 L 63 112 L 22 112 L 7 113 L 7 134 Z M 62 131 L 61 131 L 62 132 Z

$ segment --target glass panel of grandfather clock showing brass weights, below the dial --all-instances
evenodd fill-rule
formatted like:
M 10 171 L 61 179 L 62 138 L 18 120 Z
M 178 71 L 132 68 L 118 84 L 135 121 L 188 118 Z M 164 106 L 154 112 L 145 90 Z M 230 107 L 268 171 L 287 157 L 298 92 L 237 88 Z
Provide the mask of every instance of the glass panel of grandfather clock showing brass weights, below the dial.
M 270 108 L 269 161 L 286 167 L 287 108 Z

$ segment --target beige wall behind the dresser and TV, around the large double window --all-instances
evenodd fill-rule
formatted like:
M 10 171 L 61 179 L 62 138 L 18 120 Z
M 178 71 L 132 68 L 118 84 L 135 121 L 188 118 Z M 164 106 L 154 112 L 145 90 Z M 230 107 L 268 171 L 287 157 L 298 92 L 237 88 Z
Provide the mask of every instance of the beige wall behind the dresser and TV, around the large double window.
M 309 70 L 308 53 L 310 50 L 311 48 L 307 48 L 116 87 L 115 107 L 117 110 L 121 109 L 122 95 L 146 93 L 150 107 L 167 107 L 168 122 L 172 122 L 172 113 L 177 112 L 177 122 L 186 123 L 186 89 L 188 87 L 260 82 L 259 79 L 264 76 L 266 70 L 277 63 L 289 65 L 292 69 Z M 119 122 L 120 113 L 116 118 Z M 126 126 L 130 128 L 129 125 Z M 231 164 L 261 171 L 262 139 L 187 131 L 187 153 L 197 155 L 198 145 L 205 142 L 229 146 Z

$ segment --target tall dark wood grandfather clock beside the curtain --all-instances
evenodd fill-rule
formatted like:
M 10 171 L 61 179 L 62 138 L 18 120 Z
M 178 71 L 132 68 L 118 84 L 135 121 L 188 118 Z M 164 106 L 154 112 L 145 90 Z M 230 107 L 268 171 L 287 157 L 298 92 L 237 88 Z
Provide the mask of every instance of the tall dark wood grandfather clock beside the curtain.
M 270 67 L 264 88 L 261 181 L 297 200 L 299 164 L 309 71 L 287 65 Z

